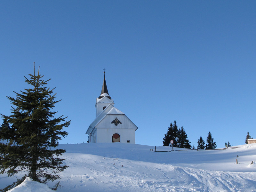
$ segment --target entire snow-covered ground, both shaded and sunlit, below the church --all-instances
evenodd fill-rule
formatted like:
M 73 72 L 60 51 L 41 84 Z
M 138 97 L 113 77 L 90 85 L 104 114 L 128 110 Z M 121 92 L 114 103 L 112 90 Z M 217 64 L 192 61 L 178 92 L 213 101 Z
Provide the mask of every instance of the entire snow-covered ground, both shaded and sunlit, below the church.
M 154 152 L 155 147 L 135 144 L 59 145 L 67 150 L 62 157 L 70 168 L 60 173 L 62 187 L 58 191 L 256 191 L 256 144 L 236 147 Z M 160 146 L 156 150 L 171 148 Z M 0 188 L 15 180 L 0 175 Z M 26 179 L 12 192 L 46 191 L 45 186 Z

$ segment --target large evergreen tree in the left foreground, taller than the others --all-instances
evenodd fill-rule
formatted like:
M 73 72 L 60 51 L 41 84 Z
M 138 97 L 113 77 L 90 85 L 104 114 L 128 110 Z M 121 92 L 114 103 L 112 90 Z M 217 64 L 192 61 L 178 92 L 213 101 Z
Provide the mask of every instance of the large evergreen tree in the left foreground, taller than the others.
M 68 127 L 70 121 L 65 122 L 62 116 L 54 118 L 57 112 L 51 111 L 58 101 L 54 101 L 53 89 L 46 88 L 47 81 L 43 76 L 29 74 L 25 82 L 31 88 L 16 93 L 16 98 L 8 97 L 12 105 L 12 115 L 4 116 L 4 123 L 0 129 L 0 173 L 14 176 L 18 172 L 25 172 L 35 181 L 45 183 L 48 180 L 60 179 L 57 173 L 68 166 L 62 165 L 64 159 L 59 158 L 64 149 L 56 149 L 58 140 L 68 135 L 62 131 Z M 64 121 L 64 122 L 63 122 Z M 9 125 L 10 124 L 10 125 Z M 6 142 L 5 142 L 6 141 Z M 12 185 L 15 187 L 24 179 L 21 178 Z

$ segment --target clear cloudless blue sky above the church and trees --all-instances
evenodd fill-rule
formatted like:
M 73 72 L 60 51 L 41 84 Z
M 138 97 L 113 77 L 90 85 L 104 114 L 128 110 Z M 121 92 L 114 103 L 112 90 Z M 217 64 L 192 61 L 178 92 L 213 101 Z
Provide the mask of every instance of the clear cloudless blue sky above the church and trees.
M 0 113 L 28 88 L 33 62 L 54 111 L 71 120 L 60 143 L 83 143 L 103 69 L 115 107 L 162 145 L 176 120 L 197 146 L 256 138 L 256 1 L 0 1 Z M 0 119 L 2 123 L 2 119 Z

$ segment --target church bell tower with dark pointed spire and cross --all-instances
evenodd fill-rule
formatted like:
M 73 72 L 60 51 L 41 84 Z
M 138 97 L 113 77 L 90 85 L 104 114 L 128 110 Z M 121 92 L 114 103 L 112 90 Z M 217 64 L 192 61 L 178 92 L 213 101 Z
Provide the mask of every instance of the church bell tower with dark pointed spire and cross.
M 104 111 L 105 108 L 107 108 L 110 104 L 114 105 L 114 100 L 111 99 L 111 97 L 108 94 L 108 88 L 106 84 L 106 79 L 105 79 L 105 71 L 104 71 L 104 80 L 103 80 L 103 85 L 102 89 L 100 92 L 100 96 L 96 98 L 96 117 L 98 117 L 102 111 Z

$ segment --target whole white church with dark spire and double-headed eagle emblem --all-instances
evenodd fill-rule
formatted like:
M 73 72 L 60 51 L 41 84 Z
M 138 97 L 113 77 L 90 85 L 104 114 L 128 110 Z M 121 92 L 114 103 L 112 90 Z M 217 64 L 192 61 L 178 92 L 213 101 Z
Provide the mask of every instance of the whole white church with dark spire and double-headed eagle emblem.
M 89 143 L 132 143 L 138 127 L 120 110 L 114 107 L 114 100 L 108 94 L 104 80 L 100 97 L 96 98 L 96 119 L 88 127 Z

